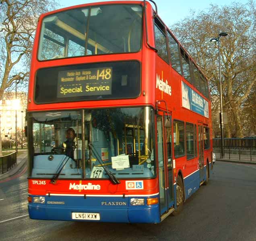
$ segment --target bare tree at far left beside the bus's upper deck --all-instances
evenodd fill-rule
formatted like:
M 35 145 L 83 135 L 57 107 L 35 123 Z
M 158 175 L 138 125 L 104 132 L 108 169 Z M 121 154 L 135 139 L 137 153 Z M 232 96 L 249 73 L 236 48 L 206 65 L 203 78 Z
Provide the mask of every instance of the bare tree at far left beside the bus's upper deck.
M 55 0 L 0 0 L 0 100 L 12 83 L 27 81 L 38 17 L 57 6 Z M 1 141 L 0 135 L 0 156 Z

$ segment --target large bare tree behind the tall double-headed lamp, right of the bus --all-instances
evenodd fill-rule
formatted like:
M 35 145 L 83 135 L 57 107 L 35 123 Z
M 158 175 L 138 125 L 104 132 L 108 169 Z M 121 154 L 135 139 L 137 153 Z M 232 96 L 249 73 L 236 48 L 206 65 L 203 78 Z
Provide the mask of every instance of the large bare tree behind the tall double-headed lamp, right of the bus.
M 213 115 L 219 112 L 219 60 L 218 44 L 210 43 L 221 31 L 221 71 L 223 86 L 223 110 L 232 122 L 225 125 L 226 137 L 242 137 L 243 104 L 256 83 L 256 6 L 254 2 L 229 6 L 211 5 L 207 12 L 191 15 L 173 26 L 174 33 L 188 49 L 210 80 Z M 217 114 L 218 115 L 218 114 Z M 256 116 L 254 116 L 256 117 Z

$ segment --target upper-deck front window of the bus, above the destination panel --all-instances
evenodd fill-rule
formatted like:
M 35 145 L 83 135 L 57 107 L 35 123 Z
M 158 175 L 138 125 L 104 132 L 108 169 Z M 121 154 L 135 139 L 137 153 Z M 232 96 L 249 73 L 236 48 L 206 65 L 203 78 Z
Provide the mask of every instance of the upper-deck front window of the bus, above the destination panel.
M 140 5 L 75 8 L 43 19 L 38 59 L 137 52 L 141 36 Z

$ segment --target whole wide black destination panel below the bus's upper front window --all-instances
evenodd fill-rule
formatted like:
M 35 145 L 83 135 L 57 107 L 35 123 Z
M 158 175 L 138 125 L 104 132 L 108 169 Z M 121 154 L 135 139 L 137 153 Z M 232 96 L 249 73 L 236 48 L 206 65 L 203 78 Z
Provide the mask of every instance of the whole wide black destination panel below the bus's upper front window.
M 84 63 L 37 70 L 35 103 L 136 98 L 141 94 L 138 61 Z

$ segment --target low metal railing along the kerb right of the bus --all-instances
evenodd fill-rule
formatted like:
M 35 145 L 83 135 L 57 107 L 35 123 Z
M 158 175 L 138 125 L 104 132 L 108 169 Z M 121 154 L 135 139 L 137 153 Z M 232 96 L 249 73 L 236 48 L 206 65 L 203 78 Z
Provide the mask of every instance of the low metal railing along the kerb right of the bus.
M 221 146 L 214 146 L 213 152 L 216 158 L 221 158 Z M 224 158 L 256 161 L 256 147 L 225 147 L 224 153 Z

